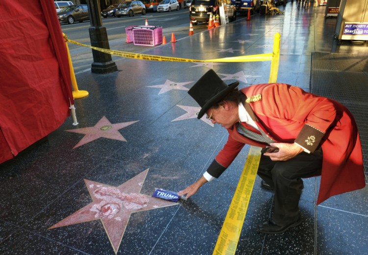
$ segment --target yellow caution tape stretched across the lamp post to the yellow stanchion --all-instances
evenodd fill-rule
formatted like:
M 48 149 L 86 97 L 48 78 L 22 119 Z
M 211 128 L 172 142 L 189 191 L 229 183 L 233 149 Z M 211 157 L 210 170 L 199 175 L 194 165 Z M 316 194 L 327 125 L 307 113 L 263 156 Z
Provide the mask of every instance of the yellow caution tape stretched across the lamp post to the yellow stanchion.
M 216 59 L 208 59 L 208 60 L 199 60 L 199 59 L 189 59 L 189 58 L 181 58 L 181 57 L 162 57 L 156 55 L 148 55 L 148 54 L 139 54 L 139 53 L 131 53 L 131 52 L 122 52 L 122 51 L 114 51 L 107 50 L 98 47 L 93 47 L 89 45 L 85 45 L 73 40 L 70 40 L 64 36 L 66 42 L 71 42 L 83 47 L 91 48 L 92 50 L 96 50 L 99 52 L 104 52 L 110 55 L 119 56 L 119 57 L 127 57 L 141 60 L 151 60 L 151 61 L 171 61 L 171 62 L 252 62 L 252 61 L 269 61 L 272 60 L 274 54 L 266 53 L 259 55 L 249 55 L 249 56 L 238 56 L 238 57 L 224 57 L 224 58 L 216 58 Z

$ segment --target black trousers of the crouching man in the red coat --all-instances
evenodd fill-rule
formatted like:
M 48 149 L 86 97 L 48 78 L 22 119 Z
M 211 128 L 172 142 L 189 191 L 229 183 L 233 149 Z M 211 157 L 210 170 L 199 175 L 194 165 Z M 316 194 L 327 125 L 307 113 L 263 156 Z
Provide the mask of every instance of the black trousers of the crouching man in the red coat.
M 320 175 L 322 149 L 302 152 L 288 161 L 272 161 L 262 154 L 257 174 L 274 189 L 273 221 L 280 226 L 299 217 L 299 199 L 304 188 L 301 178 Z

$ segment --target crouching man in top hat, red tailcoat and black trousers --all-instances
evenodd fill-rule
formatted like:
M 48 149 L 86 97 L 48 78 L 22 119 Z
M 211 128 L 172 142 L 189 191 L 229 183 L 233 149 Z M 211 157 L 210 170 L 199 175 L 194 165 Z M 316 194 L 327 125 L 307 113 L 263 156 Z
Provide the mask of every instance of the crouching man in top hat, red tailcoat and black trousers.
M 277 147 L 261 156 L 258 175 L 274 190 L 274 214 L 258 226 L 268 234 L 301 223 L 301 178 L 321 175 L 317 203 L 365 186 L 362 148 L 352 114 L 342 104 L 287 84 L 259 84 L 237 90 L 208 71 L 189 95 L 212 123 L 229 132 L 224 148 L 205 174 L 179 195 L 194 195 L 218 178 L 245 144 Z

